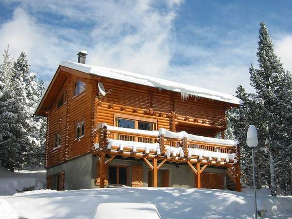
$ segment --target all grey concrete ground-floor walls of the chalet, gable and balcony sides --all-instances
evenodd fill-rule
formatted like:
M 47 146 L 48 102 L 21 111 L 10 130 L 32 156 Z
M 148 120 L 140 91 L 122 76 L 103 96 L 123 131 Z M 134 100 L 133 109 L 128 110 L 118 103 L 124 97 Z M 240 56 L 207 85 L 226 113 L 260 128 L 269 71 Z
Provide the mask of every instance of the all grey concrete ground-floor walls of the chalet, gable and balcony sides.
M 97 157 L 91 154 L 73 159 L 67 163 L 60 164 L 47 169 L 47 175 L 53 175 L 65 172 L 65 189 L 88 189 L 98 188 L 95 185 L 95 177 L 98 174 L 96 169 Z M 148 186 L 148 171 L 150 170 L 143 160 L 119 160 L 114 159 L 110 165 L 128 166 L 128 183 L 132 182 L 132 165 L 140 165 L 143 167 L 143 186 Z M 193 188 L 195 185 L 194 172 L 188 165 L 163 164 L 158 170 L 158 186 L 162 184 L 161 173 L 169 170 L 169 186 Z M 207 167 L 204 173 L 221 173 L 224 179 L 224 189 L 226 189 L 225 170 L 221 168 Z

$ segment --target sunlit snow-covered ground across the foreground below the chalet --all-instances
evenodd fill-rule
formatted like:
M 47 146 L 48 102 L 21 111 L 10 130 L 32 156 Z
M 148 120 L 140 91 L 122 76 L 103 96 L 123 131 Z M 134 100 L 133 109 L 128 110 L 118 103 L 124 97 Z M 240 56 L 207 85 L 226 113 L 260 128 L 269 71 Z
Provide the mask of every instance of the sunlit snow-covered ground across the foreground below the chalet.
M 258 205 L 266 210 L 265 218 L 292 219 L 292 196 L 271 197 L 266 195 L 269 192 L 266 189 L 258 192 Z M 0 219 L 92 219 L 98 216 L 99 204 L 110 202 L 129 202 L 128 214 L 133 207 L 130 203 L 152 203 L 163 219 L 249 219 L 254 213 L 251 194 L 252 190 L 234 192 L 196 188 L 38 190 L 0 197 Z M 116 209 L 111 207 L 107 218 L 116 215 Z M 127 218 L 127 214 L 122 214 L 121 218 Z

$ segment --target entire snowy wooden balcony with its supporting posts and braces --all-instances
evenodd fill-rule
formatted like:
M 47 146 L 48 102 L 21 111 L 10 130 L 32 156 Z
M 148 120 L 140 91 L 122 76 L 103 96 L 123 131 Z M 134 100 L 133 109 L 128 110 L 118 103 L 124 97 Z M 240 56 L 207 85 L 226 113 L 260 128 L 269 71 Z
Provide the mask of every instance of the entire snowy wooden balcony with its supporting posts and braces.
M 171 132 L 164 128 L 146 131 L 101 123 L 95 129 L 93 154 L 99 159 L 101 188 L 105 185 L 107 166 L 116 156 L 121 156 L 143 159 L 153 172 L 154 187 L 158 184 L 158 169 L 168 162 L 189 165 L 197 176 L 198 188 L 201 188 L 201 173 L 207 166 L 224 166 L 226 174 L 236 183 L 237 191 L 241 189 L 239 147 L 235 140 L 203 137 L 185 131 Z

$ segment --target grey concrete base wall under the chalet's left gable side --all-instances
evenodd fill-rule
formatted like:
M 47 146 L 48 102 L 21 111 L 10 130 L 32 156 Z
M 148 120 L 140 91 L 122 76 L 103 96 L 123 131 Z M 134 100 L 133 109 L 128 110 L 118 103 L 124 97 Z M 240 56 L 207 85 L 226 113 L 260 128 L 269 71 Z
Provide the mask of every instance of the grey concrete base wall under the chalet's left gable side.
M 47 169 L 47 176 L 65 172 L 65 189 L 88 189 L 91 188 L 91 165 L 92 155 L 78 157 L 64 164 Z

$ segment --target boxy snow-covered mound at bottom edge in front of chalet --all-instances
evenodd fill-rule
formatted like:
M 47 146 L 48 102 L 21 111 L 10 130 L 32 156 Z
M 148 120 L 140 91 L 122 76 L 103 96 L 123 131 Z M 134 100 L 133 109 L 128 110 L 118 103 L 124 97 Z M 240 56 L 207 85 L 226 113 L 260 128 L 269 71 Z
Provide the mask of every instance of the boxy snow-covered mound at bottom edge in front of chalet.
M 161 219 L 155 205 L 150 203 L 112 202 L 99 204 L 93 219 L 109 218 Z

